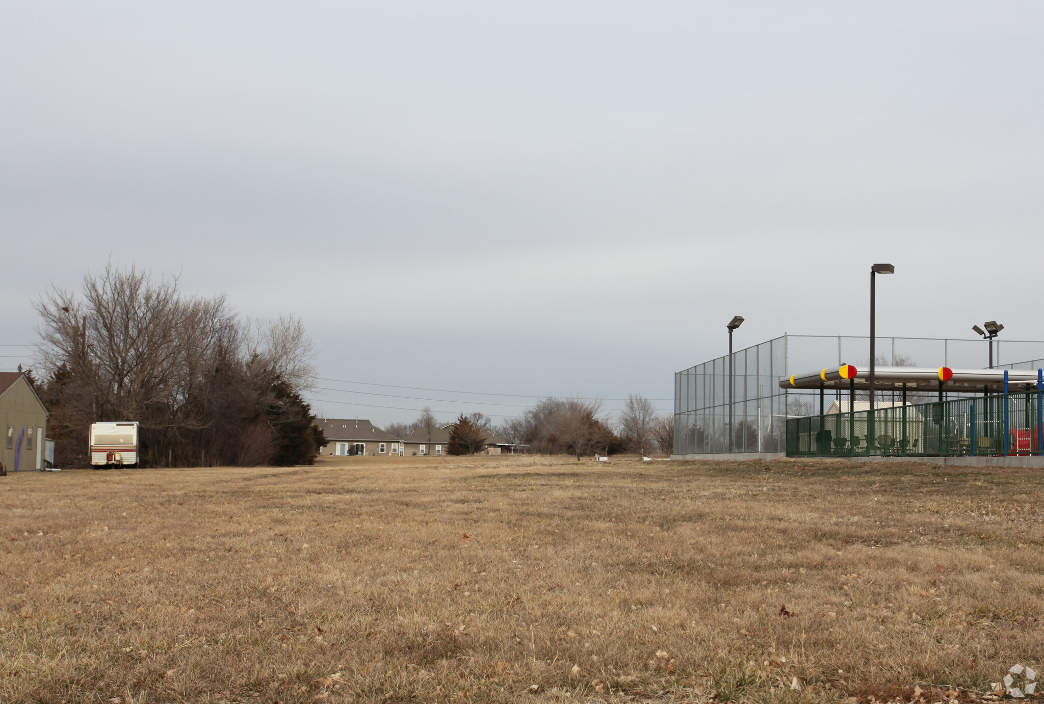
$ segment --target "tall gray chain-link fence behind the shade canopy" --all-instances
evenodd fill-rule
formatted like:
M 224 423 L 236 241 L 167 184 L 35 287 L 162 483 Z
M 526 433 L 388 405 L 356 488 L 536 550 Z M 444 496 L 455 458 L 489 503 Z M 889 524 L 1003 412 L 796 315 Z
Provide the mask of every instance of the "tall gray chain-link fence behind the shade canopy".
M 898 337 L 877 338 L 881 366 L 951 367 L 983 369 L 988 343 L 981 338 Z M 1037 369 L 1044 359 L 1044 342 L 995 339 L 995 369 Z M 1016 359 L 1020 361 L 1006 361 Z M 1033 362 L 1021 360 L 1031 359 Z M 784 390 L 779 379 L 790 374 L 870 361 L 870 337 L 858 335 L 791 335 L 737 350 L 674 374 L 674 455 L 784 452 L 786 423 L 791 418 L 817 415 L 820 393 Z M 731 390 L 731 394 L 730 394 Z M 934 395 L 910 394 L 914 403 Z M 947 393 L 944 400 L 968 396 Z M 730 402 L 731 397 L 731 402 Z M 857 401 L 868 400 L 857 392 Z M 879 390 L 878 402 L 898 400 L 896 391 Z M 836 390 L 827 404 L 849 400 Z M 826 410 L 824 408 L 823 410 Z M 850 409 L 851 410 L 851 409 Z

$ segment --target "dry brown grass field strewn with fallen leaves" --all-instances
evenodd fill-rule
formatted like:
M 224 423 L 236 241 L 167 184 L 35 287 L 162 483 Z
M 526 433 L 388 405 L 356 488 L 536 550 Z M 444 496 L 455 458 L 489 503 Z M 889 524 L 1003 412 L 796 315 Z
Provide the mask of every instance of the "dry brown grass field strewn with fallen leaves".
M 931 704 L 1044 668 L 1039 470 L 336 460 L 0 478 L 0 699 Z

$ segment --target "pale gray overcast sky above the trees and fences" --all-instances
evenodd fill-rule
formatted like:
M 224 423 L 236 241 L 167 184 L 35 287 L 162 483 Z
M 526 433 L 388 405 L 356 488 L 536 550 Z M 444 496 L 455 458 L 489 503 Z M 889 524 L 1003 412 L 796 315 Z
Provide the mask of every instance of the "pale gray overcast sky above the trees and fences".
M 669 399 L 734 314 L 865 334 L 873 261 L 882 335 L 1041 339 L 1042 51 L 1039 2 L 11 0 L 0 341 L 110 258 L 404 386 Z

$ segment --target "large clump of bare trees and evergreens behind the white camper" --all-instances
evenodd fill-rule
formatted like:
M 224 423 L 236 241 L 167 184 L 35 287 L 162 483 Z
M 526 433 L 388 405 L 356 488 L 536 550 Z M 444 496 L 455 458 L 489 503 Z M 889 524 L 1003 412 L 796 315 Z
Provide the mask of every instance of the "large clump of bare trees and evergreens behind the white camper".
M 89 427 L 102 421 L 138 421 L 151 467 L 311 464 L 326 442 L 302 396 L 315 371 L 298 319 L 243 320 L 223 296 L 112 265 L 34 305 L 60 466 L 90 464 Z

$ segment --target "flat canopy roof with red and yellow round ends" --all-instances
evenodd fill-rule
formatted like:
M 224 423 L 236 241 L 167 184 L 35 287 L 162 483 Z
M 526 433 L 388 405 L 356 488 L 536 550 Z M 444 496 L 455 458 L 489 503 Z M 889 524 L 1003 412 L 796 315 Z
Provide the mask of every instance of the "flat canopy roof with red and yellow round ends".
M 1009 389 L 1021 391 L 1036 389 L 1036 369 L 950 369 L 948 367 L 877 367 L 874 369 L 874 388 L 950 392 L 1004 391 L 1004 372 L 1007 372 Z M 806 374 L 793 374 L 779 381 L 780 389 L 849 389 L 852 382 L 856 389 L 865 389 L 870 383 L 870 370 L 856 369 L 852 365 L 831 367 Z

